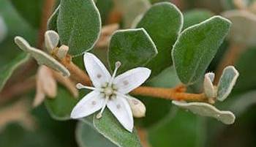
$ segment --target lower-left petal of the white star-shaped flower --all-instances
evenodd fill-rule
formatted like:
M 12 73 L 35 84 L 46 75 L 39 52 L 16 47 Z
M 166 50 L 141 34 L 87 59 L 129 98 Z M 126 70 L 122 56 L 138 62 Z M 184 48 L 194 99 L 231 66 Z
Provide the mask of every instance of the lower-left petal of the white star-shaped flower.
M 91 91 L 81 99 L 71 112 L 71 118 L 83 118 L 91 115 L 100 108 L 104 99 L 100 97 L 99 91 Z

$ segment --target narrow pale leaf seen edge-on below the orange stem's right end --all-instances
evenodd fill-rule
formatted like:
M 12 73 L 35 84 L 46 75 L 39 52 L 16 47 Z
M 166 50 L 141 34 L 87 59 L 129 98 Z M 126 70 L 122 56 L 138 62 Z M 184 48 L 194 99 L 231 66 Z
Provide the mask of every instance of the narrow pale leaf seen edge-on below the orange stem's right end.
M 174 105 L 180 108 L 190 110 L 192 113 L 198 114 L 200 116 L 208 116 L 217 118 L 217 120 L 222 121 L 223 124 L 233 124 L 235 122 L 236 116 L 230 111 L 218 110 L 213 105 L 209 105 L 205 102 L 179 102 L 173 101 Z

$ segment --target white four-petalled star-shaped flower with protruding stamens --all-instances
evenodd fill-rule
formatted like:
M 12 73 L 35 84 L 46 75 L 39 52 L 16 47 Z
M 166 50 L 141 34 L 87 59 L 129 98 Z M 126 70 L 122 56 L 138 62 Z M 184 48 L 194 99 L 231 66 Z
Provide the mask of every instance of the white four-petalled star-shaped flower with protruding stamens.
M 107 106 L 123 127 L 132 132 L 132 110 L 127 102 L 127 99 L 130 99 L 127 94 L 144 83 L 151 70 L 137 67 L 115 77 L 118 67 L 121 66 L 119 61 L 116 62 L 116 69 L 111 76 L 102 62 L 93 54 L 85 53 L 83 60 L 94 87 L 78 83 L 78 88 L 88 88 L 93 91 L 75 105 L 71 118 L 83 118 L 100 109 L 97 118 L 101 118 L 102 112 Z

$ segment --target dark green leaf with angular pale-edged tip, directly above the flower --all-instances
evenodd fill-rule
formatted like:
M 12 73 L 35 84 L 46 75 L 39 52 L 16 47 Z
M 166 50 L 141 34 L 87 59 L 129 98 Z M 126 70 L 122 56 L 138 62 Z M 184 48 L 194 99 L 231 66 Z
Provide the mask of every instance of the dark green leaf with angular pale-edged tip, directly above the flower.
M 119 73 L 143 66 L 156 55 L 157 48 L 144 29 L 119 30 L 110 39 L 108 61 L 111 69 L 121 61 Z

